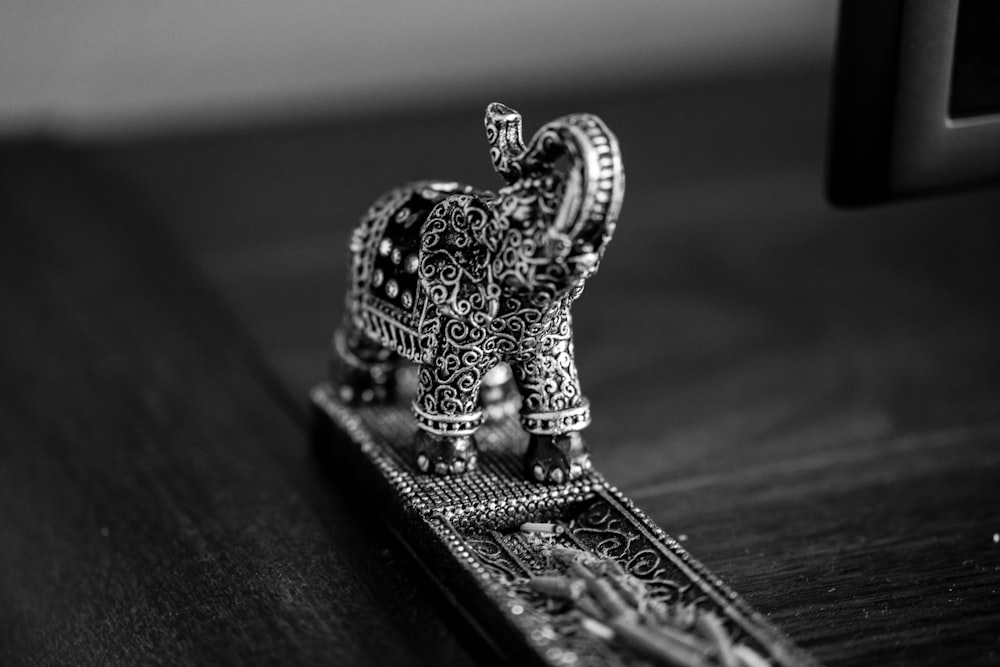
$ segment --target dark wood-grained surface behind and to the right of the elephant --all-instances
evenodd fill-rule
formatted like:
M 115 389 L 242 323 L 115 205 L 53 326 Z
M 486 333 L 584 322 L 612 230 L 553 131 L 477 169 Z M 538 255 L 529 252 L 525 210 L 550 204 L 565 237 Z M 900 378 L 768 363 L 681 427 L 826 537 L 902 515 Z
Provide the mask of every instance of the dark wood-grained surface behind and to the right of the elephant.
M 612 482 L 824 662 L 995 662 L 1000 195 L 831 210 L 828 83 L 790 71 L 504 100 L 528 128 L 595 112 L 623 146 L 621 223 L 575 307 L 588 440 Z M 88 152 L 162 216 L 303 401 L 369 202 L 420 177 L 498 185 L 480 114 Z

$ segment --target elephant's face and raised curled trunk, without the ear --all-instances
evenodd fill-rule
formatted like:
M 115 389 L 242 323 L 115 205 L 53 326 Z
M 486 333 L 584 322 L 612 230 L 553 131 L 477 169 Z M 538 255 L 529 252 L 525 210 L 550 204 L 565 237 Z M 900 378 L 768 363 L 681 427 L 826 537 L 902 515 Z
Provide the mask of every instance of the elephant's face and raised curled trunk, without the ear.
M 507 181 L 494 203 L 503 230 L 494 274 L 542 306 L 597 271 L 625 194 L 618 140 L 596 116 L 572 114 L 525 145 L 521 115 L 496 102 L 485 124 L 494 169 Z

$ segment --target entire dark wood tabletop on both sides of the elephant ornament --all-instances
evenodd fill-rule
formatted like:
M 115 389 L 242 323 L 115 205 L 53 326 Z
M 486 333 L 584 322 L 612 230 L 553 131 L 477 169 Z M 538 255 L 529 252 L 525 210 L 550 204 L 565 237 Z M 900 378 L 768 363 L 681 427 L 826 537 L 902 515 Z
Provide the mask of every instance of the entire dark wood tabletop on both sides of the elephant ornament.
M 624 150 L 617 236 L 574 311 L 588 440 L 820 660 L 997 662 L 1000 194 L 831 210 L 828 86 L 503 99 L 530 130 L 598 113 Z M 316 470 L 302 407 L 370 201 L 497 185 L 487 101 L 4 152 L 13 662 L 482 657 Z

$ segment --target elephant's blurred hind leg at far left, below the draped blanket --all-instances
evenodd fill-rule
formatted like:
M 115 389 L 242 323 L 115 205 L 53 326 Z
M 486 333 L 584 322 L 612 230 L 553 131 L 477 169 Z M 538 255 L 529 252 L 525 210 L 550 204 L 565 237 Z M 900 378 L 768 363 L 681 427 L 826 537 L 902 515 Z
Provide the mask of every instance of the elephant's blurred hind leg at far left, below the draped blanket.
M 386 403 L 396 396 L 396 370 L 402 358 L 358 330 L 345 318 L 333 334 L 330 381 L 348 405 Z

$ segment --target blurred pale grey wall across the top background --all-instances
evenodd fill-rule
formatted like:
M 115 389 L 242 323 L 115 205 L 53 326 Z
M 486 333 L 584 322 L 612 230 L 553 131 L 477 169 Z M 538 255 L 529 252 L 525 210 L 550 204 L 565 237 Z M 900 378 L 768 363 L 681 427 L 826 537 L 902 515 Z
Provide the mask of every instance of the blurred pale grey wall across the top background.
M 8 0 L 0 134 L 599 89 L 830 58 L 833 0 Z

